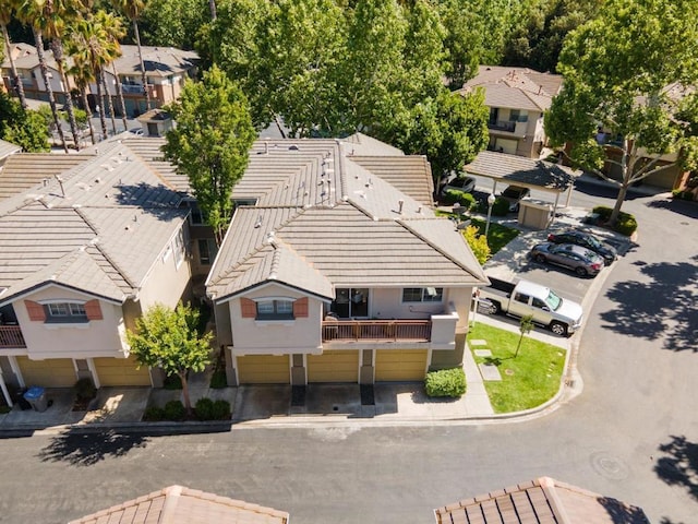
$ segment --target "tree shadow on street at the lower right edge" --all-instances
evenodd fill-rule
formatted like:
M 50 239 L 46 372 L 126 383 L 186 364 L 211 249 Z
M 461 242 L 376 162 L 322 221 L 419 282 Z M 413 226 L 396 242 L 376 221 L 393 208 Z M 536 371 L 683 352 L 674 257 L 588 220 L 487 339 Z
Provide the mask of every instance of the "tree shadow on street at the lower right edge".
M 670 486 L 686 488 L 698 500 L 698 443 L 684 436 L 672 434 L 670 438 L 659 446 L 664 456 L 657 461 L 654 473 Z

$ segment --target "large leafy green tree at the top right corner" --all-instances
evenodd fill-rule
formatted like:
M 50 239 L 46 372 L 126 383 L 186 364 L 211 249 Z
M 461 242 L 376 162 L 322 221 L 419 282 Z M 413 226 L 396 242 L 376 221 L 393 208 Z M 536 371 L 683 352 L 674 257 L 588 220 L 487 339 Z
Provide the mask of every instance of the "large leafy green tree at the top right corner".
M 615 225 L 628 188 L 678 165 L 698 165 L 696 0 L 610 0 L 565 41 L 565 83 L 545 116 L 554 145 L 567 143 L 573 164 L 618 186 Z M 642 23 L 637 23 L 642 21 Z M 598 128 L 612 143 L 594 140 Z M 664 163 L 664 155 L 677 159 Z M 663 158 L 664 157 L 664 158 Z M 616 166 L 621 180 L 602 171 Z

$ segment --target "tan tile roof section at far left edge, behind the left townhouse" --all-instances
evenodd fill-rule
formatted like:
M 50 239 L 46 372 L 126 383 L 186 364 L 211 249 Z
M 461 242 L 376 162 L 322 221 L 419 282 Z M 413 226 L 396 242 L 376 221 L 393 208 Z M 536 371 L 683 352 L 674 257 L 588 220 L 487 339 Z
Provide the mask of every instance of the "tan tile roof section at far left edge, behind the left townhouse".
M 94 156 L 87 151 L 76 155 L 51 153 L 12 155 L 0 171 L 0 201 L 40 186 L 44 180 L 65 172 Z

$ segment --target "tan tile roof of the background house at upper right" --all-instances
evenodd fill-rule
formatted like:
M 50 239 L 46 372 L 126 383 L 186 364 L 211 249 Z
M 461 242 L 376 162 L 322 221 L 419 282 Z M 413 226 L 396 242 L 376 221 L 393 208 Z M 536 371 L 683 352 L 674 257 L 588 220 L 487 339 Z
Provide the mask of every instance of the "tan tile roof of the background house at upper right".
M 550 108 L 562 82 L 559 74 L 541 73 L 526 68 L 480 66 L 478 74 L 466 82 L 460 91 L 484 88 L 488 107 L 543 111 Z

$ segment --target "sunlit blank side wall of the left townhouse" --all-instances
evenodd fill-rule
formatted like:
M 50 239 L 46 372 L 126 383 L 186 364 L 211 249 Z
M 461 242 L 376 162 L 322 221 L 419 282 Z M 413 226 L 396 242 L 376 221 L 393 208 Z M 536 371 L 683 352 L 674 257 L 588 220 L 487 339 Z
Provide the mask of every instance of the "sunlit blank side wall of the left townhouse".
M 184 246 L 186 246 L 186 242 L 188 238 L 185 237 Z M 169 257 L 164 260 L 165 250 L 163 250 L 145 278 L 140 293 L 140 302 L 143 311 L 147 311 L 155 303 L 163 303 L 173 308 L 182 299 L 182 295 L 186 290 L 192 276 L 189 253 L 184 253 L 182 262 L 178 266 L 173 239 L 170 239 L 170 246 L 172 247 L 172 252 Z

